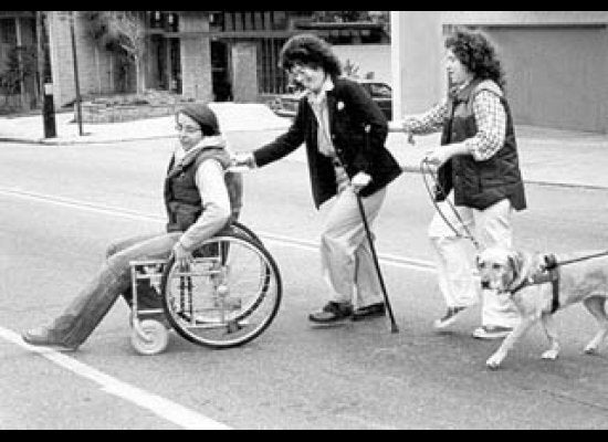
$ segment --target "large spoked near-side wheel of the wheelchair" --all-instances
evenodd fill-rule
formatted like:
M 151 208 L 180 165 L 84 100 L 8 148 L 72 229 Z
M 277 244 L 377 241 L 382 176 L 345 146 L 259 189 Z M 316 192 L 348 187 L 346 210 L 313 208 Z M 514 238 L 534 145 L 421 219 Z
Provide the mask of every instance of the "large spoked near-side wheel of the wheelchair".
M 163 306 L 175 330 L 213 348 L 237 347 L 264 332 L 282 296 L 279 267 L 264 246 L 222 232 L 193 256 L 187 270 L 171 257 L 163 273 Z

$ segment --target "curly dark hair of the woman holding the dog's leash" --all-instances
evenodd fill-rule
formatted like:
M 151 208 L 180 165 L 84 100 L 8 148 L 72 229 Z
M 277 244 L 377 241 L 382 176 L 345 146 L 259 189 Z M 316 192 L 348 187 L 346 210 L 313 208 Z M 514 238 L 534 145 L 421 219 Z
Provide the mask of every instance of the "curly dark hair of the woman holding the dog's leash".
M 445 49 L 451 50 L 475 77 L 492 80 L 504 91 L 504 70 L 494 45 L 482 31 L 458 28 L 445 39 Z

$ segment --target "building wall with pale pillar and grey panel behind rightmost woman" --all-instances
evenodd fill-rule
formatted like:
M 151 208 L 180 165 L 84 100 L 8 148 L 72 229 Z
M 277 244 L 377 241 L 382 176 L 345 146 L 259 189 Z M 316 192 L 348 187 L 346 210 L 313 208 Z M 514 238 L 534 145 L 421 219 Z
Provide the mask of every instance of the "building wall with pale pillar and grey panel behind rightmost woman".
M 497 44 L 516 124 L 608 133 L 608 11 L 398 11 L 391 20 L 396 116 L 444 95 L 443 31 L 465 24 Z

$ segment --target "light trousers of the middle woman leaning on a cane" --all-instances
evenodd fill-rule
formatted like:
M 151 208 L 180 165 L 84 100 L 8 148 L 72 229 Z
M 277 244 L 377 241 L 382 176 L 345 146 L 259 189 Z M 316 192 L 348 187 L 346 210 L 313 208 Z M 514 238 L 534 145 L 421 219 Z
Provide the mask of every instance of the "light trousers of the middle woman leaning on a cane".
M 387 189 L 361 198 L 371 230 Z M 374 257 L 361 220 L 357 196 L 346 187 L 322 208 L 321 234 L 323 278 L 329 286 L 329 301 L 353 303 L 356 307 L 384 302 Z

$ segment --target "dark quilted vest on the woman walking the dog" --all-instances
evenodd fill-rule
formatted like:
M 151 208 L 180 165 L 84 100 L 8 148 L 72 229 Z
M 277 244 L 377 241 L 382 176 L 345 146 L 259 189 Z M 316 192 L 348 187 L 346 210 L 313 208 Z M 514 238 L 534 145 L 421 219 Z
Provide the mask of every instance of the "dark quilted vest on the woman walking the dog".
M 464 90 L 451 94 L 448 101 L 448 116 L 443 124 L 441 145 L 460 143 L 478 133 L 473 115 L 473 98 L 483 90 L 492 91 L 473 81 Z M 513 128 L 513 118 L 506 99 L 501 103 L 506 113 L 506 133 L 503 147 L 490 159 L 475 161 L 471 156 L 455 156 L 439 168 L 438 179 L 443 200 L 454 190 L 454 203 L 484 210 L 488 207 L 509 199 L 515 210 L 526 208 L 524 183 L 517 158 L 517 144 Z

